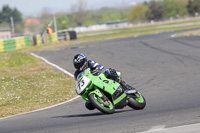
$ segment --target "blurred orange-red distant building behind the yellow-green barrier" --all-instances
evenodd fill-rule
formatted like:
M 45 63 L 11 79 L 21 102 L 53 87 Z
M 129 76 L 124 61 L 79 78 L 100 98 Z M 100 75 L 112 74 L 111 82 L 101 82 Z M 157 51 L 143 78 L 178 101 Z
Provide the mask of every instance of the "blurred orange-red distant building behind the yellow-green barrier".
M 24 20 L 24 34 L 34 35 L 40 33 L 40 20 L 38 18 L 28 18 Z

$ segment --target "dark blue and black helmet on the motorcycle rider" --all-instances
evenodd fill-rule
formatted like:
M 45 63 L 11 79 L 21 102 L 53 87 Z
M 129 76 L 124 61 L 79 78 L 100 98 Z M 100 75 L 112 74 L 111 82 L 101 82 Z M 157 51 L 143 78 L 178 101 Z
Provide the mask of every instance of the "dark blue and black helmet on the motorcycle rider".
M 77 54 L 74 56 L 73 64 L 77 70 L 83 71 L 87 68 L 87 57 L 84 54 Z

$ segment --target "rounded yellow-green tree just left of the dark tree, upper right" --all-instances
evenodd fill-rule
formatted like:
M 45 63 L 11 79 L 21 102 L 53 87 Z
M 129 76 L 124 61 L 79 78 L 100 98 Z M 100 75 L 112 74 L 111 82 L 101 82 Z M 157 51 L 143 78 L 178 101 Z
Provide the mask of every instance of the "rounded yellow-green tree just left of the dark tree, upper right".
M 133 8 L 131 8 L 129 13 L 129 21 L 130 22 L 141 22 L 146 20 L 146 11 L 147 6 L 144 4 L 139 4 Z

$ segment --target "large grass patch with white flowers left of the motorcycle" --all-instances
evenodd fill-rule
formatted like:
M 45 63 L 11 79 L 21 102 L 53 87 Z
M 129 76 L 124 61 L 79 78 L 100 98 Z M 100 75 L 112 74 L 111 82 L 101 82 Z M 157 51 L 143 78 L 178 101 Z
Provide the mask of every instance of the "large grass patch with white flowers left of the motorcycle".
M 0 117 L 29 112 L 76 96 L 73 78 L 26 52 L 0 53 Z

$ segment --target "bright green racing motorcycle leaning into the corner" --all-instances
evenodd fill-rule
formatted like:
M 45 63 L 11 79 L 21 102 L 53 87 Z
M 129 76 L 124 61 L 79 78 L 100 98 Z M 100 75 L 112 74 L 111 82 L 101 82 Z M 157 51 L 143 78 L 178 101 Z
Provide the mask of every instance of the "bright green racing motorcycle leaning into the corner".
M 118 82 L 108 79 L 105 73 L 92 74 L 90 68 L 78 75 L 76 92 L 105 114 L 112 114 L 126 105 L 135 110 L 146 106 L 145 98 L 136 89 L 125 90 Z

